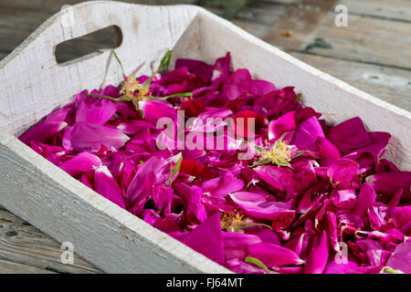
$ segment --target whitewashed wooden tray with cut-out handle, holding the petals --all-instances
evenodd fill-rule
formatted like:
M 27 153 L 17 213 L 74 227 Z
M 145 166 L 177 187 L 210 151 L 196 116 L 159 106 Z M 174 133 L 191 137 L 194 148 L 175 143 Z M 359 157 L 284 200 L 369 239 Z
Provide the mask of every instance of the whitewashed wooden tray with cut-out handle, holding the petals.
M 386 158 L 411 166 L 411 114 L 311 68 L 228 21 L 192 5 L 146 6 L 111 1 L 74 5 L 52 16 L 0 62 L 0 204 L 110 273 L 227 273 L 205 256 L 144 223 L 43 159 L 18 137 L 82 89 L 118 84 L 108 50 L 58 65 L 55 47 L 119 26 L 116 49 L 126 74 L 148 74 L 167 48 L 174 59 L 212 63 L 231 52 L 233 68 L 278 88 L 296 86 L 305 105 L 337 123 L 355 116 L 369 130 L 393 135 Z M 172 61 L 172 64 L 174 62 Z

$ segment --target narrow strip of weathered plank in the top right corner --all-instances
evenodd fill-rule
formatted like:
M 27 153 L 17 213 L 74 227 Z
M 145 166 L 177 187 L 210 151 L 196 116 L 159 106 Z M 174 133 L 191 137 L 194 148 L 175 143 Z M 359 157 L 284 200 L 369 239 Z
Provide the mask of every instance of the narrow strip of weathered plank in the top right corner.
M 409 0 L 340 0 L 348 13 L 374 16 L 390 20 L 411 22 L 411 1 Z

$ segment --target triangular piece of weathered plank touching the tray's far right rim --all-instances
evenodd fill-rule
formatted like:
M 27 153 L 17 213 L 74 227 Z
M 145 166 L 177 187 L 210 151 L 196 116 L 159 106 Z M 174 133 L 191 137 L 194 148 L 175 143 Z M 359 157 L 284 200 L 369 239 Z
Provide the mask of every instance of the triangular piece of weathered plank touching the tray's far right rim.
M 411 111 L 411 71 L 293 53 L 294 57 L 362 89 L 377 98 Z

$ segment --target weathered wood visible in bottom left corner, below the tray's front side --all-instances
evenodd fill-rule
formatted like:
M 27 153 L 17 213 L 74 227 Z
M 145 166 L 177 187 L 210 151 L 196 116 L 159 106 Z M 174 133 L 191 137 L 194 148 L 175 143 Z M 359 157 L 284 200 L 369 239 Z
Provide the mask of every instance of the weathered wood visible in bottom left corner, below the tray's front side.
M 73 265 L 60 261 L 60 244 L 27 224 L 5 209 L 0 210 L 0 259 L 18 266 L 30 266 L 36 271 L 58 273 L 101 273 L 79 255 L 74 255 Z M 0 262 L 0 272 L 4 266 Z M 22 271 L 23 272 L 23 271 Z

